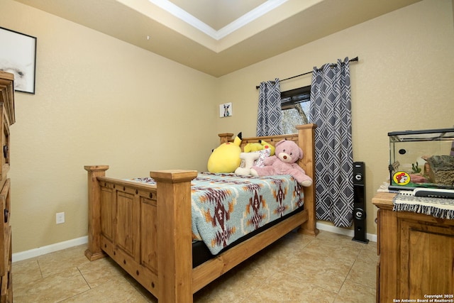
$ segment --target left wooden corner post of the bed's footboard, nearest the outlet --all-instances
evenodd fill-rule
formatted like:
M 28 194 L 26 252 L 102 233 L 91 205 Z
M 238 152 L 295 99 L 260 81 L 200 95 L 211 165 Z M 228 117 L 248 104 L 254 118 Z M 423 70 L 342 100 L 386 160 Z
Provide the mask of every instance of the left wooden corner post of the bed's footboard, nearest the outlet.
M 107 165 L 87 165 L 88 172 L 88 248 L 85 256 L 90 260 L 104 258 L 106 254 L 101 250 L 101 187 L 98 177 L 104 177 Z

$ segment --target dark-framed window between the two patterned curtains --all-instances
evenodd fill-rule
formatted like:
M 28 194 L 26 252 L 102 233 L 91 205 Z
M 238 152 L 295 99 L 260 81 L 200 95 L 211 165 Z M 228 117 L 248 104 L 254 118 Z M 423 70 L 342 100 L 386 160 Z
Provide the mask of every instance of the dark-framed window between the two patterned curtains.
M 281 92 L 282 128 L 284 133 L 297 133 L 295 126 L 309 123 L 311 86 Z

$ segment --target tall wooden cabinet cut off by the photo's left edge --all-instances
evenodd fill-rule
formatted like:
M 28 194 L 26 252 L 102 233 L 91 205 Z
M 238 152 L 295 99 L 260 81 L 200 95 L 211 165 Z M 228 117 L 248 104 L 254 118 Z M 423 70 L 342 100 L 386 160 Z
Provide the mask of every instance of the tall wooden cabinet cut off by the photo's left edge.
M 0 166 L 0 302 L 13 302 L 13 281 L 11 277 L 11 197 L 9 172 L 9 126 L 14 115 L 14 75 L 0 71 L 0 126 L 1 126 L 1 166 Z

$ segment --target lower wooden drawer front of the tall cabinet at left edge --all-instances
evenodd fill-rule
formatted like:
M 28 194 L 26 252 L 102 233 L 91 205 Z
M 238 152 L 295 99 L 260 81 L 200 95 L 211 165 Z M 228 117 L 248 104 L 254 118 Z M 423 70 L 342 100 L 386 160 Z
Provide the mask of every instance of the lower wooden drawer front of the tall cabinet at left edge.
M 6 180 L 3 189 L 0 192 L 0 276 L 8 272 L 9 261 L 11 259 L 11 226 L 9 219 L 11 217 L 11 195 L 10 180 Z

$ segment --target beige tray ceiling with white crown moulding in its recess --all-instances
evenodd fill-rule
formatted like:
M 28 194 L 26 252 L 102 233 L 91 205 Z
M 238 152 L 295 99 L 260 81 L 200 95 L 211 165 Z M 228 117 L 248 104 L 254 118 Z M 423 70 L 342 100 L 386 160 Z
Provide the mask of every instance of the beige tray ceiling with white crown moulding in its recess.
M 220 77 L 421 0 L 16 1 Z

